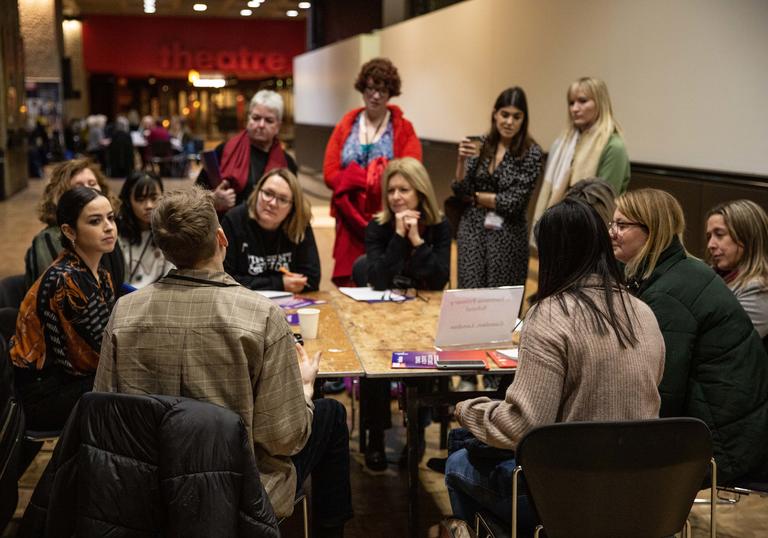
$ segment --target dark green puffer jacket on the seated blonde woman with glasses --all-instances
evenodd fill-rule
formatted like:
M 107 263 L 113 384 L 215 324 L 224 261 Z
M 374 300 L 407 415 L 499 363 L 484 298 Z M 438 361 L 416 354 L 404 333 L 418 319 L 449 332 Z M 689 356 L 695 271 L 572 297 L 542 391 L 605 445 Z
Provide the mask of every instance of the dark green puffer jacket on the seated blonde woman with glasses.
M 707 423 L 718 483 L 768 476 L 768 355 L 731 290 L 675 239 L 636 295 L 667 348 L 661 416 Z

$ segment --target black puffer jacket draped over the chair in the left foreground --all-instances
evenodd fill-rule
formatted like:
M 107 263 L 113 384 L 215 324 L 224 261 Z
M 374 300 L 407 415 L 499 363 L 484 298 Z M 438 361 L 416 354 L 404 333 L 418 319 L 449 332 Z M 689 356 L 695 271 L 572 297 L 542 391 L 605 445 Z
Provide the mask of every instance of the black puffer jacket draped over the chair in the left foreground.
M 87 393 L 19 536 L 279 537 L 240 417 L 188 398 Z

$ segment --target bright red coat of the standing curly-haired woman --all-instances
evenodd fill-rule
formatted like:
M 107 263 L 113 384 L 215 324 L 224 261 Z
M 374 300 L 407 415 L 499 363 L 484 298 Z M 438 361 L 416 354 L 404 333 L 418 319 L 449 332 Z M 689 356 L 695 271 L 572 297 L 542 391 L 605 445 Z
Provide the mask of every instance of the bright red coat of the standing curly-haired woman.
M 395 105 L 387 105 L 391 114 L 393 154 L 396 159 L 414 157 L 421 160 L 421 142 L 413 125 L 403 117 L 403 111 Z M 363 108 L 347 112 L 328 140 L 323 161 L 325 184 L 333 189 L 331 215 L 336 217 L 336 238 L 333 244 L 332 280 L 346 283 L 352 275 L 352 264 L 365 254 L 365 227 L 373 215 L 381 209 L 381 173 L 385 159 L 376 159 L 369 170 L 357 164 L 341 168 L 341 152 L 352 132 L 355 118 Z

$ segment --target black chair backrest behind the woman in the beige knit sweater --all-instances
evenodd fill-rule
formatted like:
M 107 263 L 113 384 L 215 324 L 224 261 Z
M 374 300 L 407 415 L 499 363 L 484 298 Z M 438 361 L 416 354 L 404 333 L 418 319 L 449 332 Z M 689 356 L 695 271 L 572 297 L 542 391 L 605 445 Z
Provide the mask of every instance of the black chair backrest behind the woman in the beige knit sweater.
M 712 458 L 698 419 L 569 422 L 517 448 L 549 538 L 658 538 L 679 532 Z

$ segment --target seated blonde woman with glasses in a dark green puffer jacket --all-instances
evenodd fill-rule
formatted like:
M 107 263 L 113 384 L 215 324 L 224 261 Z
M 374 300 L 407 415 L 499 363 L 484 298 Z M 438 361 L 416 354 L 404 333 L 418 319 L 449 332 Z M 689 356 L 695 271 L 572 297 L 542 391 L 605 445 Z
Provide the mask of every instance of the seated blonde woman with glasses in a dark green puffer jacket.
M 768 356 L 723 279 L 686 252 L 684 230 L 683 210 L 667 192 L 616 200 L 613 252 L 666 344 L 661 416 L 707 423 L 722 483 L 768 476 Z

